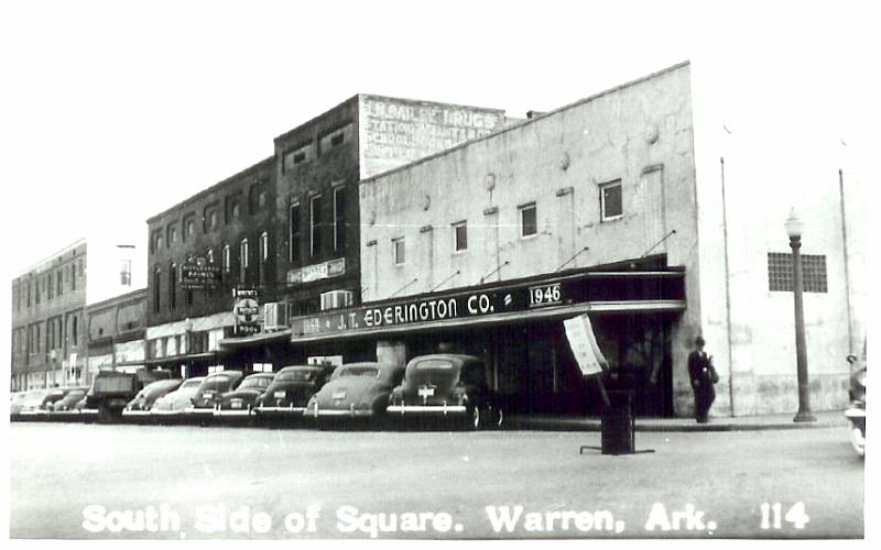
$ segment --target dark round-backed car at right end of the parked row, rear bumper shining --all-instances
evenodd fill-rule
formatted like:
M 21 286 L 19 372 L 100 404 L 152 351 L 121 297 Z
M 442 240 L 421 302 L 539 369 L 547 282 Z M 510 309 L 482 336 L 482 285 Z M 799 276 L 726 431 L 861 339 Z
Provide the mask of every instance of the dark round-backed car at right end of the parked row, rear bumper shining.
M 391 394 L 389 414 L 465 418 L 474 429 L 500 427 L 502 410 L 489 391 L 483 362 L 472 355 L 414 358 Z

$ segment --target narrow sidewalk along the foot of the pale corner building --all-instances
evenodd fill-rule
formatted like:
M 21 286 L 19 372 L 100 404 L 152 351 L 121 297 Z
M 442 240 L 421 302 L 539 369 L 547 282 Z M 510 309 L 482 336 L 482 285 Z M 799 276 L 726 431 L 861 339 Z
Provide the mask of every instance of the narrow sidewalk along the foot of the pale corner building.
M 817 418 L 815 422 L 793 422 L 794 416 L 793 411 L 784 415 L 710 417 L 708 424 L 697 424 L 694 418 L 637 417 L 635 425 L 637 431 L 751 431 L 844 428 L 848 424 L 841 410 L 815 413 L 814 416 Z M 504 428 L 509 430 L 600 431 L 600 419 L 512 415 L 505 417 Z

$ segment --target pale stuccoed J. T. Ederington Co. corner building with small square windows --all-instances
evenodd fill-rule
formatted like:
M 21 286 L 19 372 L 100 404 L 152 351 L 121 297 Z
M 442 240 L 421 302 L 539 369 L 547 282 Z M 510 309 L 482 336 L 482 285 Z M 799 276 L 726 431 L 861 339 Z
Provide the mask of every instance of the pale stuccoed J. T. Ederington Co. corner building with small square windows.
M 774 157 L 760 136 L 771 119 L 744 119 L 735 139 L 725 81 L 684 63 L 366 178 L 363 305 L 294 319 L 293 343 L 368 341 L 396 362 L 474 353 L 513 410 L 581 414 L 598 396 L 563 320 L 588 312 L 638 414 L 692 414 L 698 334 L 721 376 L 714 414 L 794 413 L 795 206 L 813 404 L 844 406 L 845 358 L 866 334 L 858 182 L 815 136 L 786 135 L 802 150 Z

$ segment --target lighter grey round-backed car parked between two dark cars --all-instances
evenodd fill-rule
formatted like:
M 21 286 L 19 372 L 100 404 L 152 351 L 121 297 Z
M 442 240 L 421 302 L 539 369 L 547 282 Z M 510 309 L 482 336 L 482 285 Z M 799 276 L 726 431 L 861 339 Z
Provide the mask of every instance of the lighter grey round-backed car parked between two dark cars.
M 385 414 L 389 395 L 401 382 L 401 365 L 350 363 L 337 367 L 330 380 L 306 404 L 304 415 L 356 418 Z

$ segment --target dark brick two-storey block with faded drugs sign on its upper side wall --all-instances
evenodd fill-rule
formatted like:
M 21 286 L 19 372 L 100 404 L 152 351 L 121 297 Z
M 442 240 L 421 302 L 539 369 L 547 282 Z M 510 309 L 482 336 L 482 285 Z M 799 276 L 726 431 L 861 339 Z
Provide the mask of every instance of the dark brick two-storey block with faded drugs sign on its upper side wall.
M 191 376 L 337 356 L 292 346 L 289 316 L 360 304 L 358 183 L 504 122 L 497 109 L 358 95 L 151 217 L 146 362 Z M 205 273 L 185 267 L 198 262 Z M 244 304 L 237 289 L 257 297 Z

